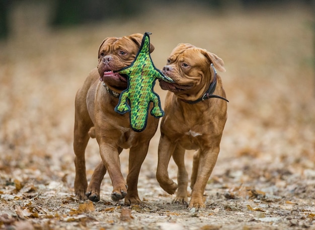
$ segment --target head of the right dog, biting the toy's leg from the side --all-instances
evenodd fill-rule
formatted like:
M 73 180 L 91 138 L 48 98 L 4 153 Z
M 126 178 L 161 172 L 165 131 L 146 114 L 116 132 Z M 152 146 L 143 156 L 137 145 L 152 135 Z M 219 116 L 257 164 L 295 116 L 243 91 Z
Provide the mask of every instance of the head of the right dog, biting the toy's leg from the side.
M 162 72 L 175 83 L 160 81 L 163 90 L 169 90 L 182 99 L 200 97 L 212 80 L 210 64 L 225 72 L 224 62 L 217 55 L 191 44 L 179 44 L 167 59 Z

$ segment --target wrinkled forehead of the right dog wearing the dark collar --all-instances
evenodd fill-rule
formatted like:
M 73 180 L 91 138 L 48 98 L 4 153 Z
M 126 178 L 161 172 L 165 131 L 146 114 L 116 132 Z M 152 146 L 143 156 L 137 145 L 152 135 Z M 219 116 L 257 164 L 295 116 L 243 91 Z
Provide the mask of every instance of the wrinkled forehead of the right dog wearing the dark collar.
M 169 59 L 174 61 L 189 61 L 190 63 L 200 63 L 207 60 L 206 56 L 203 55 L 202 50 L 197 47 L 176 47 L 171 55 L 169 56 Z

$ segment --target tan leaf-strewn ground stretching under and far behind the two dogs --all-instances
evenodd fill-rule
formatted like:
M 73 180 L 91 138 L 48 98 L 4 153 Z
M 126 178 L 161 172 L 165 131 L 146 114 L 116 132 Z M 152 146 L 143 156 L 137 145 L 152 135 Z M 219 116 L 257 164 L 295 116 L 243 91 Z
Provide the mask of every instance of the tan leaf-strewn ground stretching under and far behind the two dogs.
M 47 27 L 46 5 L 14 5 L 13 34 L 0 43 L 1 229 L 315 229 L 315 91 L 312 12 L 303 6 L 223 12 L 172 7 L 133 20 Z M 184 13 L 185 12 L 185 13 Z M 189 13 L 187 13 L 189 12 Z M 150 17 L 148 17 L 148 15 Z M 151 32 L 162 68 L 180 42 L 216 53 L 228 120 L 204 199 L 172 203 L 155 179 L 157 131 L 139 179 L 141 205 L 73 193 L 74 95 L 107 36 Z M 165 92 L 155 91 L 162 101 Z M 162 103 L 164 104 L 164 103 Z M 93 139 L 88 179 L 100 161 Z M 121 154 L 128 173 L 128 151 Z M 192 153 L 186 154 L 189 172 Z M 171 161 L 169 173 L 176 180 Z

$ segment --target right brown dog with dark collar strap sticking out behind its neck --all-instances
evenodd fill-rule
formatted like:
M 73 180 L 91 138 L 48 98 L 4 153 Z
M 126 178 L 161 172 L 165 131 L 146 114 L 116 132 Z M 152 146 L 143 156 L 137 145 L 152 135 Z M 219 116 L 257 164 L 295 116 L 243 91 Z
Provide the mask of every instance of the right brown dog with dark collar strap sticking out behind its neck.
M 205 207 L 203 192 L 219 154 L 227 118 L 225 92 L 213 65 L 225 71 L 222 59 L 215 54 L 190 44 L 179 44 L 163 68 L 163 73 L 175 84 L 160 81 L 161 88 L 169 92 L 161 123 L 156 178 L 170 194 L 178 188 L 174 202 L 187 205 L 188 174 L 184 155 L 185 149 L 196 149 L 189 208 Z M 167 171 L 172 155 L 178 166 L 178 185 Z

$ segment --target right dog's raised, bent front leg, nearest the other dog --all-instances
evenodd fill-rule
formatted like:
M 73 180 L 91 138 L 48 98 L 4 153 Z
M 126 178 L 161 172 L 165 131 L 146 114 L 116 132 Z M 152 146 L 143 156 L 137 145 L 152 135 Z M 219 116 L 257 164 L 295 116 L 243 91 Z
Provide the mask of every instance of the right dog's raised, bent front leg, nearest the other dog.
M 174 142 L 172 142 L 164 134 L 161 134 L 158 150 L 156 179 L 160 186 L 169 194 L 174 194 L 177 189 L 177 184 L 169 178 L 168 173 L 169 162 L 175 147 L 176 144 Z

